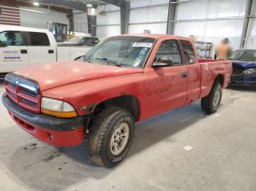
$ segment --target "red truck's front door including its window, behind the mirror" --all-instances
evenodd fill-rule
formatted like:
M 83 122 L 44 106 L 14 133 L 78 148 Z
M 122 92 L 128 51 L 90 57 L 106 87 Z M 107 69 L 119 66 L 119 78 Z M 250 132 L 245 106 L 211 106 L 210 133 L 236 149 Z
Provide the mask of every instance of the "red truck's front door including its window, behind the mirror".
M 165 40 L 159 46 L 155 61 L 170 58 L 172 66 L 147 68 L 143 74 L 145 118 L 167 112 L 187 101 L 187 66 L 182 65 L 181 53 L 175 39 Z

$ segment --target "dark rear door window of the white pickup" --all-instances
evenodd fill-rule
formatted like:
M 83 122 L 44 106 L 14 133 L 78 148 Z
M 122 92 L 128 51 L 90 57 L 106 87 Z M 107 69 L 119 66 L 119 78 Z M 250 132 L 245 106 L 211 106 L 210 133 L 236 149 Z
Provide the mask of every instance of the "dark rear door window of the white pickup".
M 30 46 L 50 46 L 48 35 L 45 33 L 29 32 Z

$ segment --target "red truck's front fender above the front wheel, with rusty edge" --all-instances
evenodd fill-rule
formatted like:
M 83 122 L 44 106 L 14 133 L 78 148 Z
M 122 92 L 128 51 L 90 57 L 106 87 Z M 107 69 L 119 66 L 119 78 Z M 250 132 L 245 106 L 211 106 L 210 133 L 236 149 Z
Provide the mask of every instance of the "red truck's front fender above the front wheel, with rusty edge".
M 142 73 L 88 80 L 42 91 L 42 96 L 61 99 L 75 106 L 79 115 L 89 114 L 96 106 L 111 98 L 134 96 L 140 108 L 142 99 Z

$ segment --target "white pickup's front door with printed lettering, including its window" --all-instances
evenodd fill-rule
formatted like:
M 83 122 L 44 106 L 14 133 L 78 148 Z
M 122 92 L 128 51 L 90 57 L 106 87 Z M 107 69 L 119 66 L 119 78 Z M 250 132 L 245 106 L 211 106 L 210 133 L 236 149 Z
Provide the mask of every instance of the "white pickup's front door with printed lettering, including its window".
M 17 71 L 29 66 L 29 52 L 21 31 L 0 33 L 0 72 Z

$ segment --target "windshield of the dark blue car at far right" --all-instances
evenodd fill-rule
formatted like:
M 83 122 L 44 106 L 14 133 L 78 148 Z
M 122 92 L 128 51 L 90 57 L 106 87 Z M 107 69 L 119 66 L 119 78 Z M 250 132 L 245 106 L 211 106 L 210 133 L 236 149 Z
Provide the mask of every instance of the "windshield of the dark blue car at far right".
M 230 60 L 256 61 L 256 50 L 237 50 L 232 53 Z

